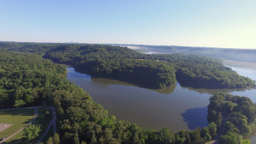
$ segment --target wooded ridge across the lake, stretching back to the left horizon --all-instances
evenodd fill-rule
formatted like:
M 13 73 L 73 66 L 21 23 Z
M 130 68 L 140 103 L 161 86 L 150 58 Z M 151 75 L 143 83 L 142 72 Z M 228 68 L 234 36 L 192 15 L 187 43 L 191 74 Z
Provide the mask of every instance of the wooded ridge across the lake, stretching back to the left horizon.
M 223 66 L 222 59 L 188 54 L 141 54 L 111 45 L 12 43 L 1 48 L 43 55 L 57 63 L 70 64 L 91 76 L 139 79 L 154 88 L 182 85 L 200 88 L 255 87 L 250 78 Z

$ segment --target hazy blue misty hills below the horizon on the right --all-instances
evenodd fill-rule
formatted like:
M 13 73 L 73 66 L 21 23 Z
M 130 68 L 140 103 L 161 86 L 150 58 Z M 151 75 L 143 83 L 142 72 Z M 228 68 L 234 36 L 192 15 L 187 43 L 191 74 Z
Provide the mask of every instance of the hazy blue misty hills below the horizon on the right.
M 118 44 L 116 44 L 118 45 Z M 215 48 L 215 47 L 188 47 L 188 46 L 166 46 L 166 45 L 132 45 L 119 44 L 136 51 L 144 51 L 145 53 L 183 53 L 183 54 L 199 54 L 204 56 L 222 57 L 226 60 L 234 60 L 241 62 L 256 62 L 256 49 L 234 49 L 234 48 Z M 150 54 L 151 54 L 150 53 Z

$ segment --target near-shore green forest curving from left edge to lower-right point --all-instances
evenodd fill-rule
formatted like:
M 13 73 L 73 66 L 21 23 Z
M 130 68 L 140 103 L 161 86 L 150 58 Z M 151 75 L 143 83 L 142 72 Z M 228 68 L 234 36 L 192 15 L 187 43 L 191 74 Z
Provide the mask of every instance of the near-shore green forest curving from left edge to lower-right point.
M 234 138 L 232 142 L 247 144 L 249 141 L 242 138 L 255 128 L 255 105 L 249 98 L 229 94 L 210 98 L 209 125 L 203 129 L 173 133 L 168 128 L 144 130 L 128 121 L 116 122 L 115 116 L 109 116 L 87 92 L 65 78 L 60 64 L 37 54 L 4 49 L 0 55 L 0 108 L 47 101 L 56 107 L 62 144 L 202 144 L 217 135 L 221 113 L 229 116 L 221 141 Z

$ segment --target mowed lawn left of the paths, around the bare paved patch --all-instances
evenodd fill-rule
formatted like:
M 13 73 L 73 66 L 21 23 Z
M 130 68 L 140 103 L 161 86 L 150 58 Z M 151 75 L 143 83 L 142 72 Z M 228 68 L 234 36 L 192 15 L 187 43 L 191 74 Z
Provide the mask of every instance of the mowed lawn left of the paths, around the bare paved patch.
M 0 123 L 13 124 L 8 129 L 0 132 L 0 138 L 8 137 L 29 123 L 35 110 L 32 108 L 17 110 L 0 110 Z

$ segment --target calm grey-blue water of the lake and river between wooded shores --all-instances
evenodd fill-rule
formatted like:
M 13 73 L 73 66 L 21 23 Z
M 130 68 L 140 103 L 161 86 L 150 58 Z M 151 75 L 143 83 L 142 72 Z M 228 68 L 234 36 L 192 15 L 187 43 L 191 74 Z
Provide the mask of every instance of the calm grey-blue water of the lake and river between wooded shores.
M 91 78 L 71 67 L 67 70 L 67 79 L 86 90 L 95 102 L 108 110 L 109 115 L 116 116 L 117 120 L 137 123 L 145 129 L 159 131 L 168 127 L 178 132 L 207 126 L 209 97 L 216 92 L 247 96 L 256 102 L 255 89 L 194 89 L 181 87 L 179 83 L 164 89 L 146 89 L 124 81 Z M 256 80 L 253 71 L 247 75 L 239 67 L 234 70 Z M 256 136 L 251 140 L 251 143 L 256 143 Z

